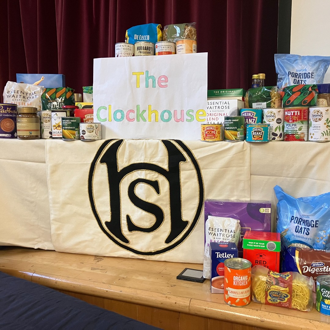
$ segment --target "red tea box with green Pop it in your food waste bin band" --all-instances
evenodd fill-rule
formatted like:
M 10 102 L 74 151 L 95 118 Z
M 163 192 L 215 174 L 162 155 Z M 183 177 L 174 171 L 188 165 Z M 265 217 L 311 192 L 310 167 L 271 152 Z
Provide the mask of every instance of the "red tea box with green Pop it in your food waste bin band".
M 280 272 L 280 233 L 247 231 L 243 238 L 243 258 L 255 265 Z

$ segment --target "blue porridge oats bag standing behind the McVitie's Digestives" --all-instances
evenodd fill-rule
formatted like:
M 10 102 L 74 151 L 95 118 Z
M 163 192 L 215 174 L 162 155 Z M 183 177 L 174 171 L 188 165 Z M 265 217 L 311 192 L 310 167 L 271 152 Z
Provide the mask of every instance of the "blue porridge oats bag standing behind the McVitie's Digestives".
M 281 246 L 330 249 L 330 192 L 294 198 L 274 187 L 277 203 L 276 231 Z

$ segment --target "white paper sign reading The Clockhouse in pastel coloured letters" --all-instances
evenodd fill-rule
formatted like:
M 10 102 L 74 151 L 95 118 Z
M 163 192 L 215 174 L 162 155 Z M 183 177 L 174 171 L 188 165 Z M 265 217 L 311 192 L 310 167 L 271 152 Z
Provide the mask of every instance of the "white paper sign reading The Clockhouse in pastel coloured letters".
M 96 58 L 93 101 L 102 138 L 200 140 L 207 53 Z

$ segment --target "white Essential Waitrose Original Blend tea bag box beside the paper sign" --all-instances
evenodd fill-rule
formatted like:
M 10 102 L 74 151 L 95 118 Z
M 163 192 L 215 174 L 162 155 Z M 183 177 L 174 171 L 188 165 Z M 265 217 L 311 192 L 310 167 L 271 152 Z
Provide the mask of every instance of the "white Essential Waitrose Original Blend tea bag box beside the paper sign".
M 225 116 L 239 116 L 240 109 L 245 108 L 245 102 L 221 97 L 208 97 L 206 121 L 207 124 L 223 124 Z

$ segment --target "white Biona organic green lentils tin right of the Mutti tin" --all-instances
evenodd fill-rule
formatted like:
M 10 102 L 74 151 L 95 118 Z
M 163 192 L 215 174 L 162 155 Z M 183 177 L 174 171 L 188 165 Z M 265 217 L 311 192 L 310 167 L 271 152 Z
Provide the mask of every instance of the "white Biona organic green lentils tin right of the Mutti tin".
M 308 141 L 330 141 L 330 107 L 309 108 Z

